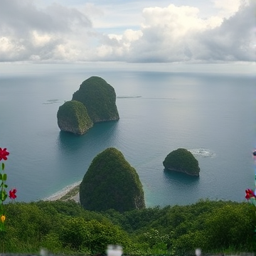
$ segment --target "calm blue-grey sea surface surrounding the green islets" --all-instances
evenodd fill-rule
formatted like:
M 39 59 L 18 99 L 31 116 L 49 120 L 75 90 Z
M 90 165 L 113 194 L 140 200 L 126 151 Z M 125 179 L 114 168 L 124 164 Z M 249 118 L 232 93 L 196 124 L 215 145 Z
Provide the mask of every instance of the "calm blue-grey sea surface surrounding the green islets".
M 4 68 L 3 68 L 4 67 Z M 117 94 L 117 122 L 78 137 L 60 132 L 56 114 L 83 80 L 105 79 Z M 255 75 L 83 65 L 28 65 L 0 71 L 0 147 L 17 201 L 46 198 L 82 180 L 92 159 L 114 146 L 142 181 L 146 206 L 200 198 L 244 201 L 253 188 Z M 200 177 L 164 171 L 167 154 L 191 150 Z

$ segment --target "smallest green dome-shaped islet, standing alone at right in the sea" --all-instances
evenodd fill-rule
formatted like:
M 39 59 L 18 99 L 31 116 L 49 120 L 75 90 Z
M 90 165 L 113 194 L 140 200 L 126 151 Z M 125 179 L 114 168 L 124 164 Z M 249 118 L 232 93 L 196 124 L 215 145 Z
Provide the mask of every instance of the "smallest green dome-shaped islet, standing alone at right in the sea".
M 199 176 L 200 168 L 198 161 L 187 149 L 176 149 L 171 151 L 164 159 L 164 168 L 171 171 L 181 171 L 183 173 Z

